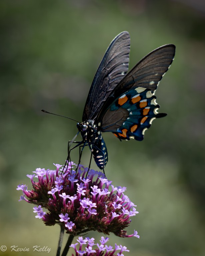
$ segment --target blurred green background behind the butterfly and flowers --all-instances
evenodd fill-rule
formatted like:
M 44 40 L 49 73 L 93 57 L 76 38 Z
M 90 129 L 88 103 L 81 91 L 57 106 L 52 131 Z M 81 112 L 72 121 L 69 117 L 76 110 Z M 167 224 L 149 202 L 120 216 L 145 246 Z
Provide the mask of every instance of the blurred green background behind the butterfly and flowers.
M 0 255 L 21 255 L 10 253 L 12 245 L 31 248 L 26 255 L 39 255 L 34 245 L 48 246 L 55 255 L 59 227 L 35 219 L 33 205 L 18 202 L 16 186 L 31 189 L 26 174 L 64 163 L 76 123 L 40 110 L 81 121 L 103 54 L 124 30 L 130 68 L 167 43 L 176 45 L 176 55 L 156 93 L 168 116 L 154 121 L 142 142 L 103 134 L 106 175 L 127 187 L 139 211 L 127 230 L 136 229 L 140 239 L 110 235 L 110 244 L 127 246 L 130 256 L 205 255 L 204 28 L 200 0 L 0 2 L 0 241 L 8 247 Z M 78 150 L 72 160 L 77 156 Z M 82 163 L 89 157 L 86 148 Z

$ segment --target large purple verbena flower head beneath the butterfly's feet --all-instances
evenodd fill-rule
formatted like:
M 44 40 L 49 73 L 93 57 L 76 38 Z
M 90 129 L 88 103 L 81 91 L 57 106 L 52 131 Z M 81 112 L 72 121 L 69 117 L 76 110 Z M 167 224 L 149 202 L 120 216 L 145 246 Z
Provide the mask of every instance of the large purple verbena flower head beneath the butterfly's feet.
M 119 237 L 127 235 L 125 228 L 130 217 L 138 212 L 135 205 L 124 195 L 125 187 L 114 187 L 105 175 L 79 165 L 76 173 L 73 162 L 68 163 L 62 173 L 62 165 L 54 164 L 56 170 L 37 168 L 33 175 L 27 175 L 33 189 L 18 185 L 22 190 L 20 200 L 33 203 L 36 218 L 46 225 L 61 225 L 67 233 L 79 235 L 89 230 L 104 234 L 114 233 Z M 34 179 L 37 178 L 37 181 Z M 19 200 L 19 201 L 20 201 Z M 43 208 L 47 211 L 44 212 Z

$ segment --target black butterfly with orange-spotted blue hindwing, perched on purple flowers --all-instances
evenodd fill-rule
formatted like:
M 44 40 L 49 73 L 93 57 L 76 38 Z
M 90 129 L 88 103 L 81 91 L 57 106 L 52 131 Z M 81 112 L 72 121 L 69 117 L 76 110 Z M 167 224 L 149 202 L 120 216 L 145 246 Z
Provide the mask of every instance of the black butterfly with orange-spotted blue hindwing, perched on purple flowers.
M 77 124 L 82 136 L 77 146 L 88 145 L 103 171 L 108 152 L 102 132 L 112 132 L 120 140 L 141 141 L 152 121 L 166 116 L 157 112 L 160 106 L 154 94 L 174 59 L 175 45 L 155 49 L 128 72 L 129 52 L 130 36 L 124 31 L 106 50 L 88 93 L 82 122 Z

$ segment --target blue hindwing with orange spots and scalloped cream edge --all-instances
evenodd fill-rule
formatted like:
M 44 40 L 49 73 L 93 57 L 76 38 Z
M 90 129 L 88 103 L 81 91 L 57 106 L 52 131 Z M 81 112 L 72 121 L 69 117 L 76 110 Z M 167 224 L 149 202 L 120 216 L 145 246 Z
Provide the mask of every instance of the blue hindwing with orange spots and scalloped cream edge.
M 144 132 L 155 118 L 166 116 L 157 113 L 159 105 L 150 89 L 131 89 L 116 99 L 103 116 L 102 131 L 113 132 L 120 140 L 143 140 Z

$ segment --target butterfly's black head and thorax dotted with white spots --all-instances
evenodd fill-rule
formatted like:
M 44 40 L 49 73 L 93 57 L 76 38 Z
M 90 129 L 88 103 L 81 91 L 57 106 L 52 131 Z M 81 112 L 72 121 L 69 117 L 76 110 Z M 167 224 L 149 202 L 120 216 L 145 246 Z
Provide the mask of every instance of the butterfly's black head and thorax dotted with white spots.
M 77 128 L 81 133 L 84 142 L 90 142 L 91 144 L 93 144 L 99 137 L 97 127 L 93 125 L 92 122 L 78 123 Z

